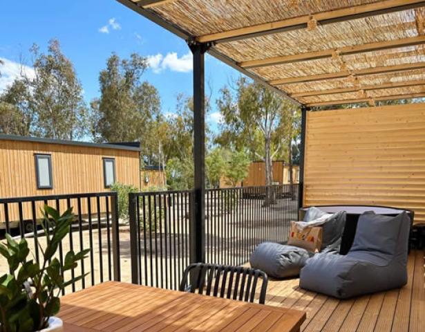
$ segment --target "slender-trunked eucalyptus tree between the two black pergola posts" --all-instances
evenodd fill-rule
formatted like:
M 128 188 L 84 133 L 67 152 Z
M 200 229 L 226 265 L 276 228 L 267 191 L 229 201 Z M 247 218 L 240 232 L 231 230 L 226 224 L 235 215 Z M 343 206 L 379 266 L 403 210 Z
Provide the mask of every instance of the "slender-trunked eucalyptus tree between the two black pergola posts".
M 261 84 L 244 77 L 235 83 L 220 90 L 217 106 L 223 122 L 216 142 L 247 149 L 252 160 L 263 160 L 266 185 L 272 185 L 272 160 L 288 158 L 299 110 Z

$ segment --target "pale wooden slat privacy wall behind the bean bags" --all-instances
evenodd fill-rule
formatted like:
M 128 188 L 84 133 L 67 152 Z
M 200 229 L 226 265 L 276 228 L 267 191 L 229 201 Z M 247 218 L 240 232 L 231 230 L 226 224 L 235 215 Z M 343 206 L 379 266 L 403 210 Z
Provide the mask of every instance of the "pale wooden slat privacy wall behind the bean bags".
M 308 112 L 304 205 L 415 210 L 425 221 L 425 104 Z

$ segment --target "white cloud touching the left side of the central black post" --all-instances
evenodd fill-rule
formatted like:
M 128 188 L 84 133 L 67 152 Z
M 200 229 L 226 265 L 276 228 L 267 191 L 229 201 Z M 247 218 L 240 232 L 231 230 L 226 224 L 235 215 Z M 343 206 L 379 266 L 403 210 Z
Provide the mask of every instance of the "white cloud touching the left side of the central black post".
M 162 55 L 149 55 L 148 64 L 152 68 L 153 73 L 160 73 L 166 69 L 170 71 L 177 71 L 179 73 L 189 73 L 192 71 L 192 53 L 186 53 L 182 57 L 178 57 L 176 52 L 167 53 Z

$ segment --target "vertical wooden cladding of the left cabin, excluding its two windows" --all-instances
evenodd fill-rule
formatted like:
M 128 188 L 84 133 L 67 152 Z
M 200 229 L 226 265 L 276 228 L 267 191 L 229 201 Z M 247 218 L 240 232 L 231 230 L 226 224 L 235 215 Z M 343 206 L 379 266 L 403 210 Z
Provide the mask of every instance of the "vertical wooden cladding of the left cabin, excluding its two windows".
M 52 156 L 51 190 L 37 190 L 35 154 Z M 138 151 L 0 140 L 0 197 L 108 192 L 104 187 L 104 157 L 115 158 L 116 181 L 140 187 Z M 83 202 L 84 210 L 85 205 Z M 30 205 L 24 204 L 23 208 L 24 217 L 29 218 Z M 11 219 L 16 217 L 15 210 L 11 211 Z M 3 208 L 0 209 L 2 221 Z

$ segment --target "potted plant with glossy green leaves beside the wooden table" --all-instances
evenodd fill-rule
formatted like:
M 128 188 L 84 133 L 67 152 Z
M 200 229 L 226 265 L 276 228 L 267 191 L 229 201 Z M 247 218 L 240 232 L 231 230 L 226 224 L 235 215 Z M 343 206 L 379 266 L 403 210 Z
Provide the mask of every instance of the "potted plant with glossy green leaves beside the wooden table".
M 77 267 L 88 250 L 75 254 L 72 250 L 61 263 L 55 253 L 62 239 L 70 232 L 74 220 L 72 209 L 60 215 L 44 205 L 43 223 L 46 246 L 40 246 L 39 262 L 28 259 L 30 249 L 26 239 L 15 241 L 6 234 L 6 245 L 0 243 L 0 254 L 8 261 L 9 273 L 0 277 L 0 331 L 62 331 L 62 321 L 54 317 L 60 308 L 60 292 L 66 286 L 85 277 L 68 281 L 64 272 Z M 43 248 L 44 247 L 44 248 Z

